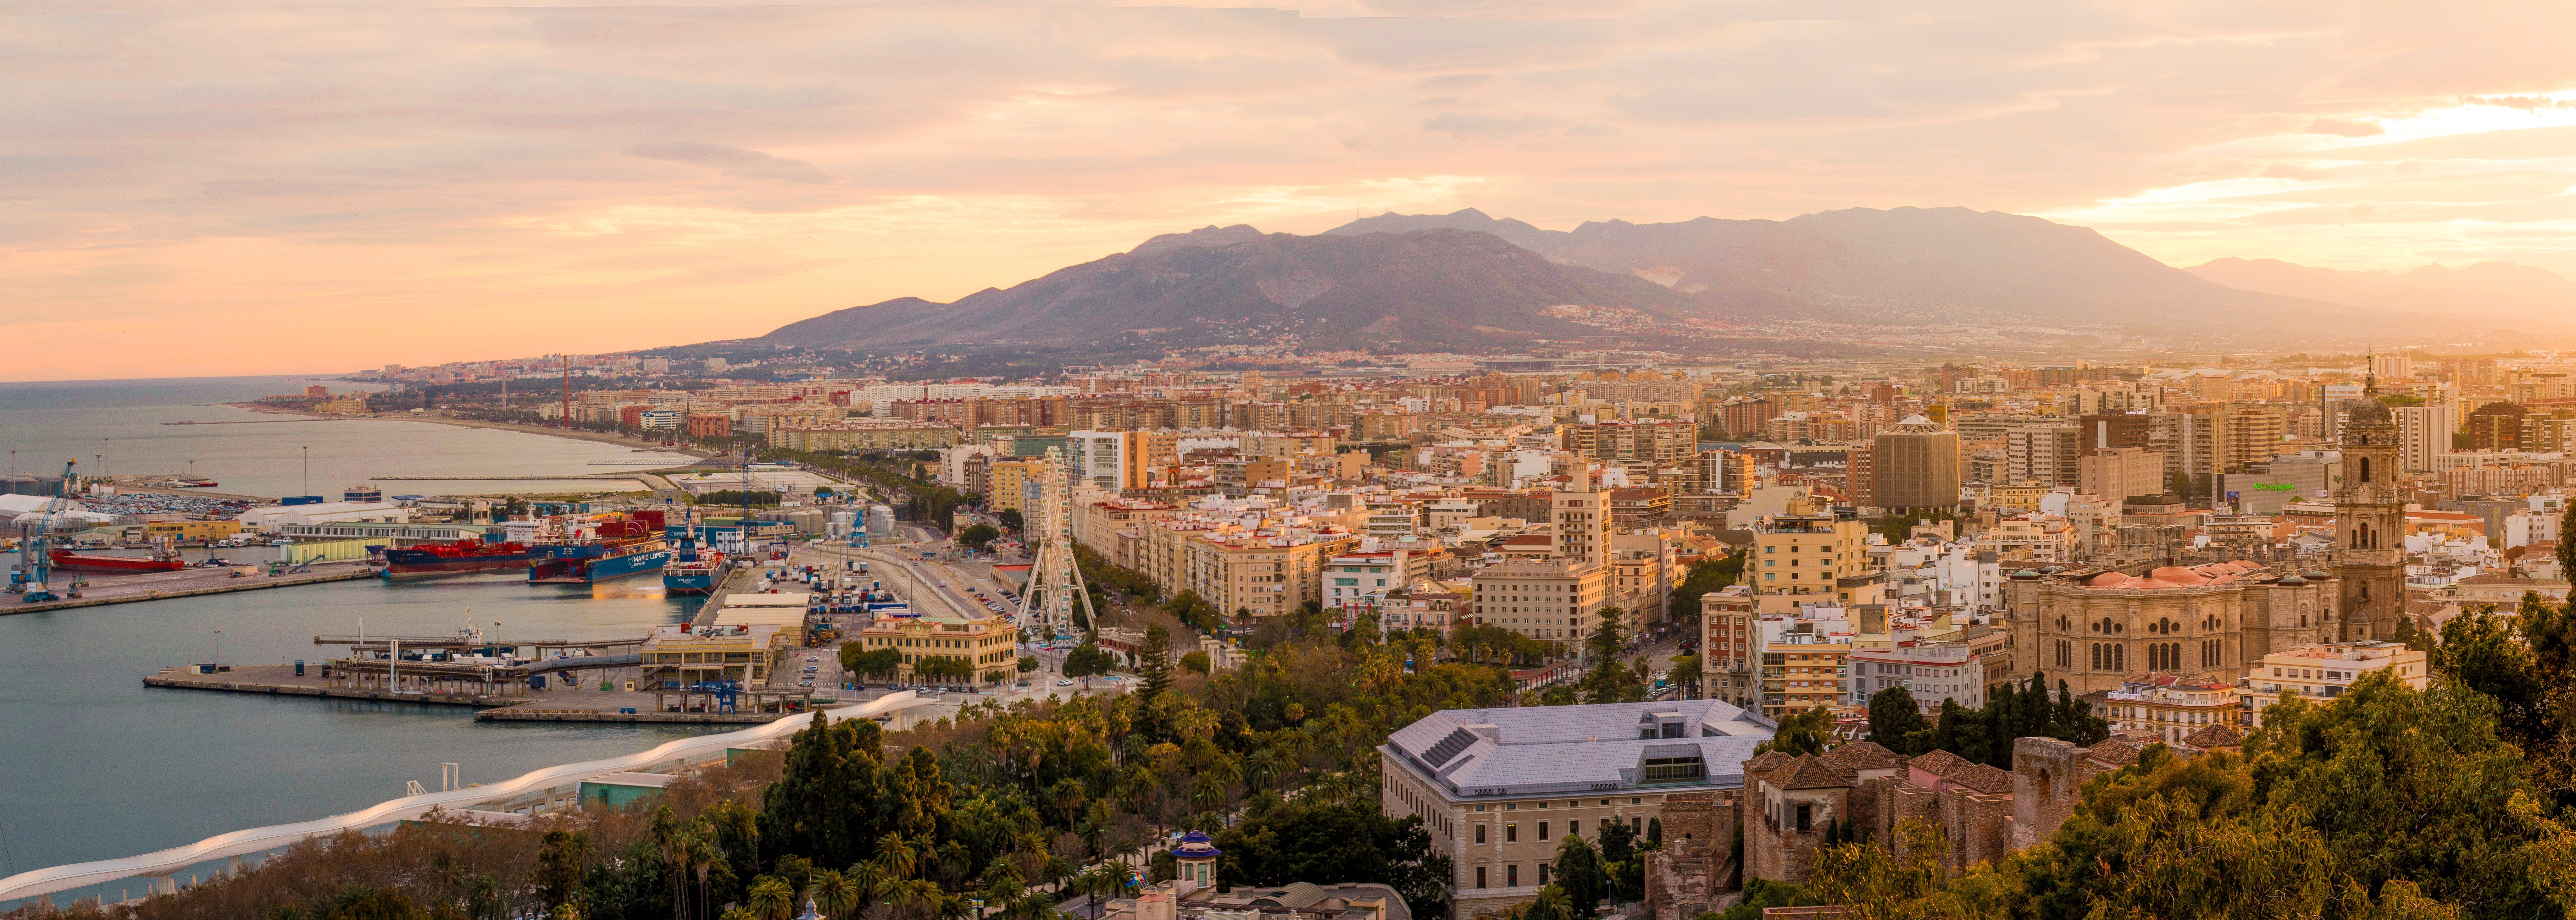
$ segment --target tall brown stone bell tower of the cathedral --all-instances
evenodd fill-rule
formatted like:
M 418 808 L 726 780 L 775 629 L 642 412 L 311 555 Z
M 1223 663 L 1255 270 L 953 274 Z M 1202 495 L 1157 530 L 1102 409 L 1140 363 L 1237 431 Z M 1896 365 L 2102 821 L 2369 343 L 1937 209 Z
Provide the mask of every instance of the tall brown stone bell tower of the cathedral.
M 2344 417 L 2344 477 L 2334 487 L 2336 639 L 2393 639 L 2406 616 L 2406 495 L 2398 490 L 2398 423 L 2380 402 L 2378 374 Z

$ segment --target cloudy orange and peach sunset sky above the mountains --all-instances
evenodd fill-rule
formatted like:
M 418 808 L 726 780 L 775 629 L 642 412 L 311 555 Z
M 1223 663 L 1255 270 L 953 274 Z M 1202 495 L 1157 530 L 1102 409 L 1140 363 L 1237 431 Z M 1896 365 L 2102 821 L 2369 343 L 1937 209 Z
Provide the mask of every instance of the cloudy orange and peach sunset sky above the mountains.
M 0 13 L 0 379 L 750 338 L 1388 209 L 2576 276 L 2576 3 Z

